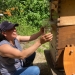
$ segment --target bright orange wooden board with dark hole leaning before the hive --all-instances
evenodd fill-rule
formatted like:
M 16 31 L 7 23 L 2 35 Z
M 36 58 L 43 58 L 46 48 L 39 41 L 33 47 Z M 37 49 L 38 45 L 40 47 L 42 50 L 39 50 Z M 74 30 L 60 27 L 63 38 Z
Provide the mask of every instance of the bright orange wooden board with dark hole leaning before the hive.
M 64 69 L 66 75 L 75 75 L 75 46 L 65 47 L 64 51 Z

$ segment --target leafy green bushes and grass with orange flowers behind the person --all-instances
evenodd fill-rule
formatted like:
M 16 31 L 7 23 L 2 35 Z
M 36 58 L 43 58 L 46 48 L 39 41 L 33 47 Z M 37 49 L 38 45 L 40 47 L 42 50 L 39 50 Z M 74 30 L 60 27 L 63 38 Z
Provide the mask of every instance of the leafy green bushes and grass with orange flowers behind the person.
M 19 23 L 19 34 L 31 34 L 42 26 L 42 20 L 50 17 L 47 0 L 0 0 L 0 10 L 5 12 L 0 22 Z M 29 32 L 28 29 L 30 30 Z

